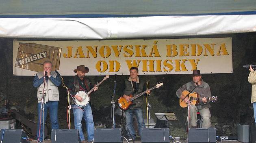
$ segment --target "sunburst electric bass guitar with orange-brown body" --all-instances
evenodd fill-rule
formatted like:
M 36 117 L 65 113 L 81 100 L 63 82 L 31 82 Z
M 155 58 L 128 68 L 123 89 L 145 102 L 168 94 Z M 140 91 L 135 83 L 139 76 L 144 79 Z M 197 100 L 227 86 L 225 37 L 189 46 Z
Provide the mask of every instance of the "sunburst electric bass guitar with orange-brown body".
M 154 87 L 152 87 L 152 88 L 150 88 L 150 89 L 148 89 L 148 90 L 153 90 L 153 89 L 155 89 L 155 88 L 159 88 L 160 86 L 162 86 L 163 85 L 163 82 L 162 83 L 160 83 L 160 84 L 156 84 L 156 86 L 154 86 Z M 129 95 L 131 98 L 130 98 L 130 101 L 128 102 L 124 97 L 119 97 L 119 99 L 118 99 L 118 105 L 119 105 L 119 107 L 122 109 L 122 110 L 127 110 L 129 107 L 130 107 L 130 105 L 135 105 L 135 103 L 132 103 L 132 101 L 134 100 L 134 99 L 137 99 L 138 97 L 140 97 L 141 95 L 144 95 L 145 93 L 147 93 L 147 90 L 146 91 L 143 91 L 142 93 L 139 93 L 139 94 L 137 94 L 137 95 L 135 95 L 135 96 L 132 96 L 132 95 Z

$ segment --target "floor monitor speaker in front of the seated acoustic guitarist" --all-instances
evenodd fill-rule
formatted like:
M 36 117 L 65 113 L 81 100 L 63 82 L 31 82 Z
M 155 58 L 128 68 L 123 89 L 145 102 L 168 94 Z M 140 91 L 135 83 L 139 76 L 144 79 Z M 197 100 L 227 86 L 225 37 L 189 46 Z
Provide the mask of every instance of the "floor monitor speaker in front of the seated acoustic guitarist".
M 189 143 L 208 143 L 208 141 L 216 143 L 216 128 L 189 128 Z

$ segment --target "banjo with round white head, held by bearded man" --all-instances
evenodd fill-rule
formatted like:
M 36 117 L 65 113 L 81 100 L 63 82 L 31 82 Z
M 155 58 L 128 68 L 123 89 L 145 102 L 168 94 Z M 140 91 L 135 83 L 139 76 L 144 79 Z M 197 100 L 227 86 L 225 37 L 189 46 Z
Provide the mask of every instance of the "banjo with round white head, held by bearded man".
M 102 81 L 100 81 L 98 84 L 96 84 L 95 86 L 98 87 L 102 82 L 104 82 L 104 80 L 106 80 L 107 78 L 109 78 L 109 75 L 106 75 L 105 78 L 103 78 Z M 89 94 L 93 91 L 93 88 L 91 88 L 90 91 L 85 92 L 85 91 L 78 91 L 76 93 L 76 95 L 80 96 L 82 98 L 82 101 L 78 101 L 76 98 L 74 98 L 75 100 L 75 104 L 78 105 L 79 107 L 84 107 L 86 106 L 89 102 L 90 102 L 90 97 Z

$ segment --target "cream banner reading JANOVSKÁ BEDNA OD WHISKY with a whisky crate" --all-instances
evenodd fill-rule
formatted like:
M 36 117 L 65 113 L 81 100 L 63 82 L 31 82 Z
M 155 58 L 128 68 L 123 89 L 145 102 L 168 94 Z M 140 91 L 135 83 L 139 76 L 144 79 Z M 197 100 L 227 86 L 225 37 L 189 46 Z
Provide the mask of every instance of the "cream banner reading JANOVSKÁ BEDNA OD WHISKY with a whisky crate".
M 43 61 L 63 76 L 75 75 L 78 65 L 89 76 L 232 73 L 232 38 L 153 40 L 13 41 L 13 75 L 34 76 Z

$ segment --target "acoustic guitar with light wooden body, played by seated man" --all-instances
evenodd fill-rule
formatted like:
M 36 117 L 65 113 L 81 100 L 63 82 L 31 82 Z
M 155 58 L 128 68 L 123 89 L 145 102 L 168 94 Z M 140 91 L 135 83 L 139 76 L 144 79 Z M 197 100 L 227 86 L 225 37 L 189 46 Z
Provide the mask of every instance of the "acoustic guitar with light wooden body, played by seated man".
M 184 90 L 182 92 L 182 95 L 180 96 L 180 107 L 184 108 L 187 107 L 187 103 L 185 103 L 184 100 L 182 100 L 184 97 L 186 97 L 186 95 L 189 94 L 189 91 Z M 205 97 L 207 100 L 210 100 L 212 102 L 217 101 L 218 97 L 213 96 L 213 97 Z M 191 101 L 191 105 L 195 105 L 197 106 L 199 104 L 199 101 L 202 100 L 203 97 L 200 97 L 200 95 L 198 93 L 190 93 L 189 94 L 189 101 Z

